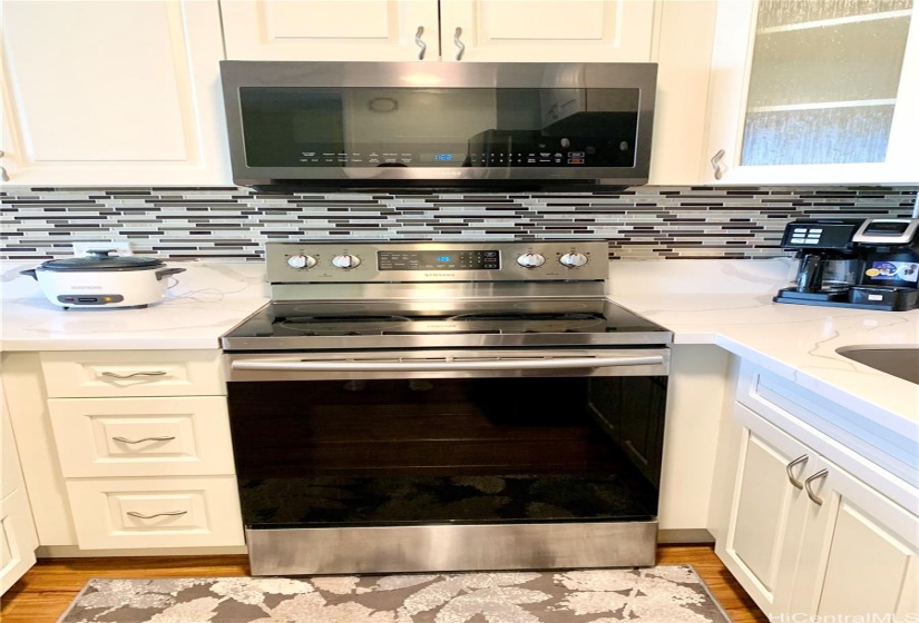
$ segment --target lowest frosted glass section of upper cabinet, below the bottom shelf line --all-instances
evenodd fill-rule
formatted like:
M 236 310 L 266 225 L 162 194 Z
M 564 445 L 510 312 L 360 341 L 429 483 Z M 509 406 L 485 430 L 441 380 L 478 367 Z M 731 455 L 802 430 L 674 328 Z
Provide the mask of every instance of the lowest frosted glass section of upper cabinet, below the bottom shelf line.
M 893 106 L 823 108 L 747 116 L 744 165 L 882 162 Z

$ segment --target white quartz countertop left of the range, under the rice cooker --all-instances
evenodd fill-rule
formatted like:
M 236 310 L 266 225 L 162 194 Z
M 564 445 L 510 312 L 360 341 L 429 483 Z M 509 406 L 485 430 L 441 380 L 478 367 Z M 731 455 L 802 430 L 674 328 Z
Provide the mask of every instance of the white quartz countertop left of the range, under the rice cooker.
M 167 261 L 167 297 L 146 308 L 62 309 L 35 279 L 6 264 L 0 271 L 0 350 L 217 349 L 219 338 L 268 301 L 260 263 Z

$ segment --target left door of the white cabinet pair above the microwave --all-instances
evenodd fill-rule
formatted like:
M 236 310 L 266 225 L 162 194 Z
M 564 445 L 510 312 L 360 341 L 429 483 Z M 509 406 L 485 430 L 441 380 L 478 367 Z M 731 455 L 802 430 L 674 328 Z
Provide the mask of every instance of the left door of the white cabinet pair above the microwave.
M 221 0 L 233 60 L 438 60 L 437 0 Z

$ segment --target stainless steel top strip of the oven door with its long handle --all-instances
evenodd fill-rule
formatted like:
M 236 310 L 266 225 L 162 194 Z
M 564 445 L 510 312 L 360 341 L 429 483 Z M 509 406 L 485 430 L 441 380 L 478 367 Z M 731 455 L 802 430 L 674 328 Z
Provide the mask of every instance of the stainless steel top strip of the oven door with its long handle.
M 545 360 L 540 360 L 545 359 Z M 618 362 L 627 362 L 618 364 Z M 525 376 L 666 376 L 667 348 L 381 350 L 224 355 L 227 380 L 334 380 Z

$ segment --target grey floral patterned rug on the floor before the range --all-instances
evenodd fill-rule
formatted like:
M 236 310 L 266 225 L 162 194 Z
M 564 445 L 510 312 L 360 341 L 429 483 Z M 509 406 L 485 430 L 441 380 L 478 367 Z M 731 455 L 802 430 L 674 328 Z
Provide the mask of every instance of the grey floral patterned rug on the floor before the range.
M 726 623 L 692 566 L 90 580 L 59 623 Z

